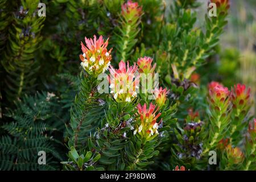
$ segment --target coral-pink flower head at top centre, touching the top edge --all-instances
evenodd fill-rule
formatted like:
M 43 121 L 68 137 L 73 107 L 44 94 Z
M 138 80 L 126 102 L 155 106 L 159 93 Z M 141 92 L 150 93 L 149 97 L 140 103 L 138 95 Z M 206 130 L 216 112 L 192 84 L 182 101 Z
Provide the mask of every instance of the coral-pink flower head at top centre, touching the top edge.
M 139 6 L 138 2 L 129 0 L 127 3 L 122 5 L 122 15 L 127 20 L 135 21 L 142 15 L 142 7 Z

